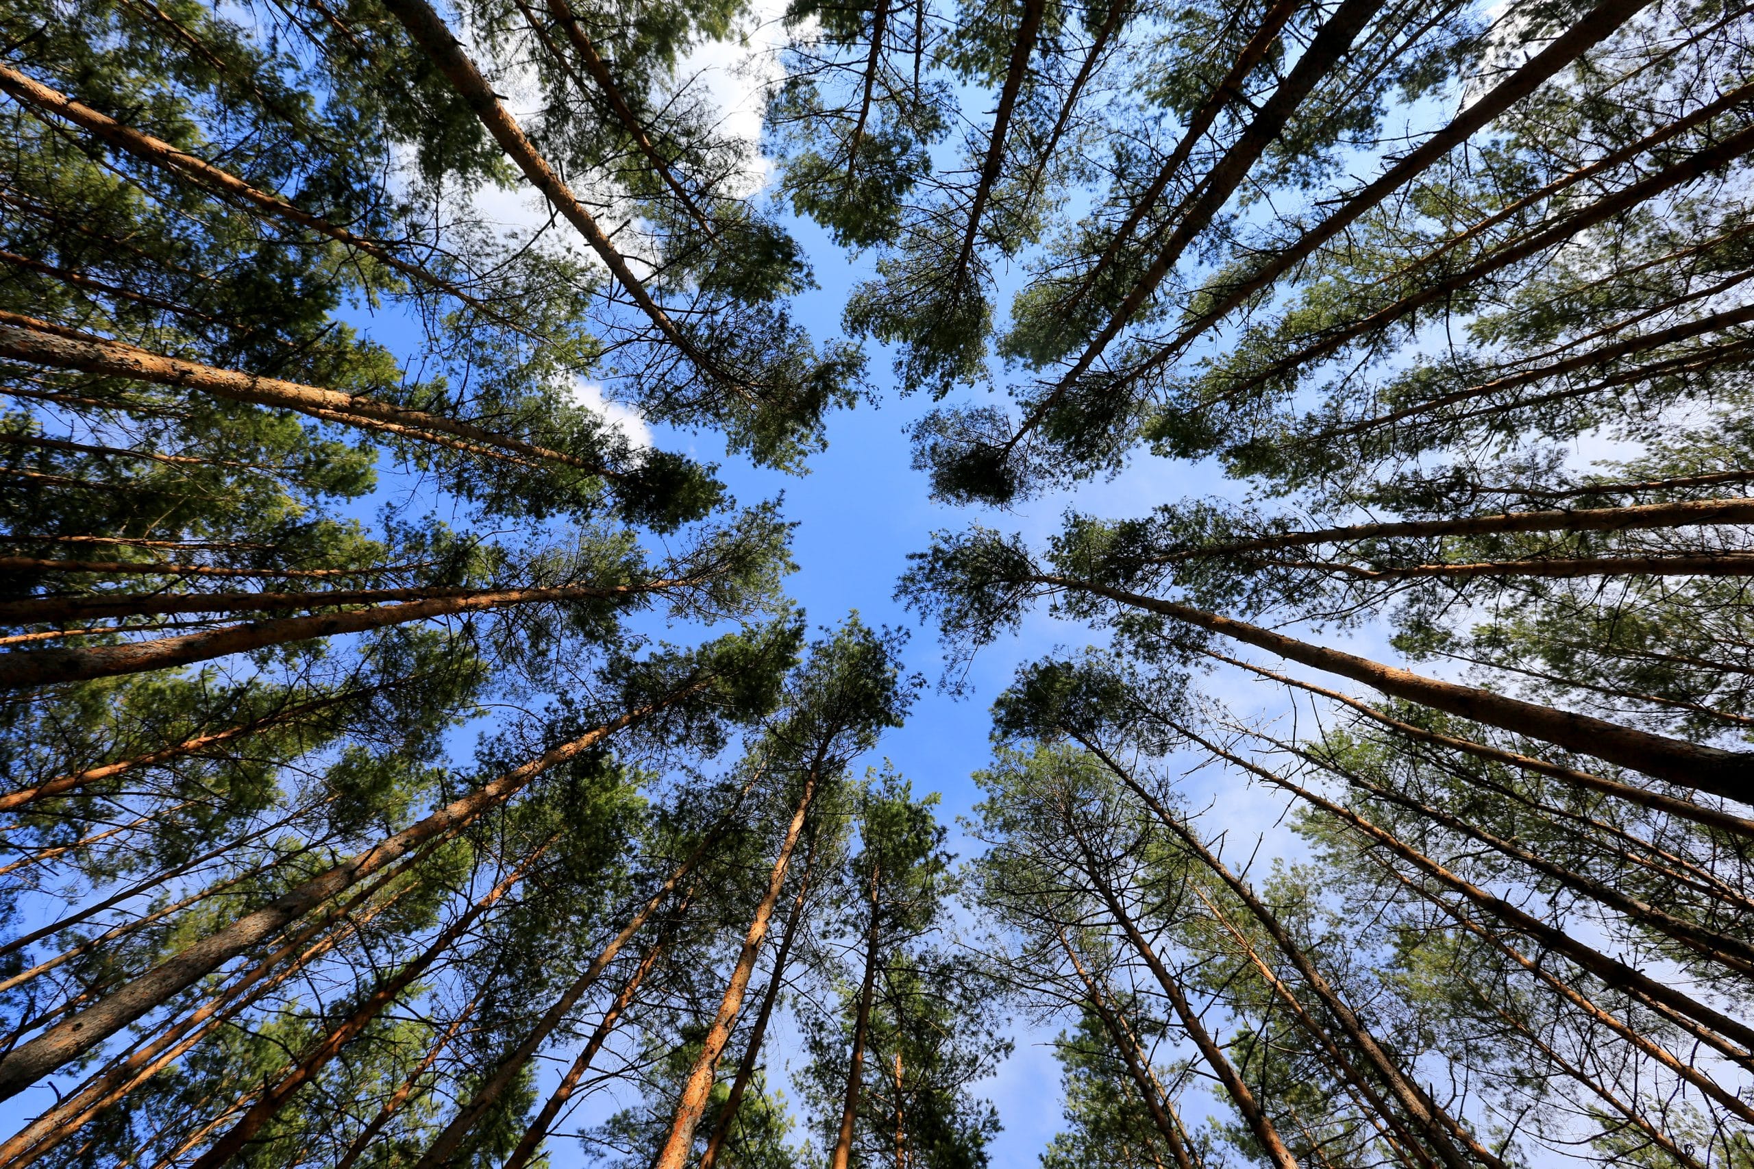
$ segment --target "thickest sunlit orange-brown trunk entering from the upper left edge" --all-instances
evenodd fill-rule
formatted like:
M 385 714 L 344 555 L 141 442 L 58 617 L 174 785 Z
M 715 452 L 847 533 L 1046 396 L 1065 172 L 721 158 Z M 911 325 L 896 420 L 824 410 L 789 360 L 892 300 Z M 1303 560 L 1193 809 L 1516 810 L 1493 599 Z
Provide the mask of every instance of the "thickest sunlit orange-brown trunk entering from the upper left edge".
M 0 77 L 4 77 L 4 67 L 0 67 Z M 456 421 L 454 418 L 444 418 L 442 414 L 414 411 L 365 395 L 307 386 L 281 377 L 260 377 L 232 369 L 202 365 L 200 362 L 186 362 L 123 341 L 111 341 L 96 333 L 19 316 L 18 312 L 0 312 L 0 356 L 49 369 L 126 377 L 158 386 L 177 386 L 232 402 L 289 409 L 344 427 L 386 430 L 489 458 L 516 456 L 517 462 L 560 463 L 596 476 L 616 477 L 602 463 L 495 434 L 482 427 Z

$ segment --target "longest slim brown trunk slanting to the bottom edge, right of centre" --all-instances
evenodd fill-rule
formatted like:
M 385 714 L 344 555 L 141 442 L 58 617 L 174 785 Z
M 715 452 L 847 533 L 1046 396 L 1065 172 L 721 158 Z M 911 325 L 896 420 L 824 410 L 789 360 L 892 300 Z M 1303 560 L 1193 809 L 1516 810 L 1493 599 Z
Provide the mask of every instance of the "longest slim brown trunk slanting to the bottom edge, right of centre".
M 1179 839 L 1182 846 L 1187 848 L 1187 851 L 1191 851 L 1194 857 L 1200 858 L 1200 864 L 1210 869 L 1212 874 L 1217 876 L 1224 883 L 1224 886 L 1230 888 L 1230 892 L 1235 893 L 1238 900 L 1242 900 L 1244 906 L 1247 906 L 1249 914 L 1261 923 L 1261 929 L 1265 929 L 1266 934 L 1273 939 L 1273 944 L 1279 946 L 1279 951 L 1291 960 L 1293 967 L 1296 967 L 1298 976 L 1303 979 L 1303 983 L 1333 1015 L 1335 1022 L 1340 1023 L 1340 1029 L 1345 1032 L 1345 1037 L 1351 1043 L 1351 1046 L 1365 1057 L 1372 1071 L 1375 1071 L 1375 1074 L 1382 1079 L 1382 1083 L 1387 1085 L 1389 1092 L 1394 1095 L 1401 1109 L 1414 1120 L 1415 1125 L 1419 1125 L 1424 1130 L 1424 1136 L 1431 1143 L 1431 1148 L 1437 1151 L 1438 1158 L 1442 1158 L 1444 1164 L 1452 1165 L 1456 1169 L 1463 1169 L 1468 1164 L 1461 1157 L 1461 1151 L 1456 1150 L 1456 1146 L 1451 1143 L 1451 1136 L 1454 1136 L 1461 1139 L 1468 1146 L 1468 1151 L 1473 1157 L 1477 1157 L 1482 1164 L 1491 1165 L 1493 1169 L 1503 1169 L 1501 1158 L 1494 1157 L 1491 1151 L 1480 1146 L 1479 1141 L 1475 1141 L 1459 1123 L 1456 1123 L 1456 1120 L 1447 1111 L 1438 1108 L 1438 1104 L 1417 1083 L 1414 1083 L 1401 1072 L 1400 1064 L 1396 1064 L 1389 1057 L 1389 1053 L 1382 1050 L 1382 1044 L 1377 1043 L 1377 1037 L 1373 1034 L 1370 1034 L 1370 1029 L 1365 1027 L 1365 1022 L 1361 1018 L 1358 1018 L 1358 1013 L 1352 1011 L 1352 1008 L 1345 1002 L 1345 999 L 1340 997 L 1340 993 L 1333 988 L 1333 985 L 1326 979 L 1326 976 L 1323 976 L 1323 972 L 1316 967 L 1316 962 L 1308 957 L 1303 946 L 1300 946 L 1296 939 L 1291 937 L 1291 932 L 1279 920 L 1279 914 L 1273 913 L 1266 906 L 1266 902 L 1256 897 L 1254 890 L 1249 888 L 1247 881 L 1233 874 L 1230 867 L 1223 860 L 1219 860 L 1217 855 L 1212 853 L 1212 850 L 1205 846 L 1205 843 L 1193 832 L 1193 828 L 1182 823 L 1180 818 L 1173 816 L 1170 809 L 1163 806 L 1163 800 L 1159 800 L 1145 785 L 1142 785 L 1133 776 L 1133 772 L 1121 767 L 1121 764 L 1112 755 L 1109 755 L 1109 751 L 1102 749 L 1096 742 L 1084 739 L 1082 735 L 1079 735 L 1079 742 L 1082 742 L 1093 755 L 1096 755 L 1096 758 L 1100 758 L 1103 765 L 1151 809 L 1151 814 L 1156 816 L 1158 823 L 1168 828 L 1175 836 L 1175 839 Z M 1366 1092 L 1375 1095 L 1373 1090 L 1370 1090 L 1368 1087 Z

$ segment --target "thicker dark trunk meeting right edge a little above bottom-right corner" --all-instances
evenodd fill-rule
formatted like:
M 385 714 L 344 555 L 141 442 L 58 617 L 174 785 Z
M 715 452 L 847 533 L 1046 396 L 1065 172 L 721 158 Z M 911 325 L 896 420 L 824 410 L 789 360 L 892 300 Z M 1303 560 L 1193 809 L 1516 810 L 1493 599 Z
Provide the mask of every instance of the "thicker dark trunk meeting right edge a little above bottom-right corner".
M 1480 888 L 1480 886 L 1477 886 L 1477 885 L 1473 885 L 1470 881 L 1465 881 L 1463 878 L 1456 876 L 1454 872 L 1451 872 L 1449 869 L 1445 869 L 1438 862 L 1435 862 L 1430 857 L 1426 857 L 1424 853 L 1417 851 L 1415 848 L 1412 848 L 1410 844 L 1407 844 L 1405 841 L 1401 841 L 1394 834 L 1391 834 L 1386 828 L 1380 828 L 1375 823 L 1365 820 L 1363 816 L 1359 816 L 1358 813 L 1351 811 L 1349 807 L 1342 807 L 1342 806 L 1335 804 L 1333 800 L 1323 799 L 1321 795 L 1310 792 L 1308 788 L 1305 788 L 1305 786 L 1301 786 L 1298 783 L 1293 783 L 1291 779 L 1286 779 L 1284 776 L 1280 776 L 1280 774 L 1277 774 L 1273 771 L 1268 771 L 1266 767 L 1259 767 L 1256 764 L 1251 764 L 1249 760 L 1240 758 L 1238 755 L 1235 755 L 1231 751 L 1226 751 L 1224 748 L 1217 746 L 1216 742 L 1212 742 L 1212 741 L 1198 735 L 1196 732 L 1193 732 L 1187 727 L 1180 727 L 1177 730 L 1189 742 L 1194 742 L 1194 744 L 1201 746 L 1205 751 L 1209 751 L 1214 758 L 1221 758 L 1224 762 L 1230 762 L 1235 767 L 1240 767 L 1242 771 L 1245 771 L 1245 772 L 1249 772 L 1249 774 L 1252 774 L 1252 776 L 1256 776 L 1259 779 L 1265 779 L 1266 783 L 1270 783 L 1270 785 L 1273 785 L 1277 788 L 1291 792 L 1293 795 L 1296 795 L 1296 797 L 1303 799 L 1305 802 L 1308 802 L 1310 806 L 1319 807 L 1321 811 L 1324 811 L 1324 813 L 1338 818 L 1340 821 L 1352 825 L 1354 828 L 1358 828 L 1368 839 L 1375 841 L 1377 844 L 1382 844 L 1386 850 L 1389 850 L 1391 853 L 1394 853 L 1396 857 L 1400 857 L 1407 864 L 1414 865 L 1415 869 L 1419 869 L 1426 876 L 1437 879 L 1445 888 L 1449 888 L 1449 890 L 1452 890 L 1456 893 L 1461 893 L 1466 900 L 1473 902 L 1475 906 L 1479 906 L 1486 913 L 1493 914 L 1494 918 L 1498 918 L 1500 922 L 1503 922 L 1512 930 L 1515 930 L 1519 934 L 1524 934 L 1528 937 L 1533 937 L 1535 941 L 1538 941 L 1547 950 L 1552 950 L 1554 953 L 1563 955 L 1565 958 L 1568 958 L 1570 962 L 1573 962 L 1580 969 L 1584 969 L 1589 974 L 1594 974 L 1596 978 L 1600 978 L 1608 986 L 1615 986 L 1619 990 L 1633 993 L 1635 997 L 1643 999 L 1645 1002 L 1651 1002 L 1654 1006 L 1668 1008 L 1670 1011 L 1675 1011 L 1677 1015 L 1682 1015 L 1682 1016 L 1686 1016 L 1689 1020 L 1694 1020 L 1701 1027 L 1708 1029 L 1708 1032 L 1715 1032 L 1715 1046 L 1724 1055 L 1728 1055 L 1729 1058 L 1736 1060 L 1738 1064 L 1742 1064 L 1745 1067 L 1754 1067 L 1754 1027 L 1749 1027 L 1747 1023 L 1742 1023 L 1740 1020 L 1729 1018 L 1728 1015 L 1724 1015 L 1724 1013 L 1721 1013 L 1721 1011 L 1717 1011 L 1714 1008 L 1708 1008 L 1703 1002 L 1696 1002 L 1694 999 L 1691 999 L 1689 995 L 1682 993 L 1680 990 L 1677 990 L 1677 988 L 1673 988 L 1673 986 L 1670 986 L 1666 983 L 1659 983 L 1658 979 L 1649 978 L 1647 974 L 1643 974 L 1640 971 L 1635 971 L 1633 967 L 1626 965 L 1624 962 L 1610 958 L 1608 955 L 1605 955 L 1605 953 L 1601 953 L 1598 950 L 1593 950 L 1591 946 L 1586 946 L 1584 943 L 1577 941 L 1570 934 L 1566 934 L 1566 932 L 1563 932 L 1559 929 L 1554 929 L 1552 925 L 1542 922 L 1537 916 L 1531 916 L 1531 914 L 1524 913 L 1522 909 L 1519 909 L 1517 906 L 1510 904 L 1508 900 L 1503 900 L 1501 897 L 1494 897 L 1494 895 L 1487 893 L 1484 888 Z M 1736 1046 L 1731 1046 L 1731 1044 L 1736 1044 Z

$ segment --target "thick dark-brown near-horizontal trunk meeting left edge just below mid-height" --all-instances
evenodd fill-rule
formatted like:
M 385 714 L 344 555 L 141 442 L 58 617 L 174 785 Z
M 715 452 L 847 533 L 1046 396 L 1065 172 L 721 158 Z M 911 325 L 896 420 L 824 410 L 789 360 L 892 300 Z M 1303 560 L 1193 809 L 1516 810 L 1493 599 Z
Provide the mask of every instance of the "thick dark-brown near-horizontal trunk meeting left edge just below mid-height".
M 119 646 L 12 651 L 0 655 L 0 688 L 18 690 L 23 686 L 49 686 L 54 683 L 86 681 L 91 678 L 114 678 L 118 674 L 144 674 L 147 671 L 161 671 L 174 665 L 189 665 L 191 662 L 209 662 L 232 653 L 249 653 L 251 649 L 261 649 L 267 646 L 284 646 L 295 641 L 335 637 L 340 634 L 363 634 L 374 628 L 388 628 L 391 625 L 405 625 L 409 621 L 424 621 L 437 616 L 486 613 L 510 606 L 530 606 L 556 600 L 637 597 L 640 593 L 663 592 L 675 586 L 679 586 L 679 581 L 651 581 L 645 584 L 617 584 L 609 588 L 565 584 L 554 588 L 405 590 L 416 595 L 421 592 L 440 595 L 426 600 L 409 600 L 403 604 L 347 609 L 344 613 L 317 613 L 310 616 L 251 621 L 247 625 L 223 625 L 219 628 L 182 634 L 179 637 L 160 637 L 156 641 L 139 641 Z M 316 607 L 321 604 L 342 602 L 324 602 L 312 593 L 305 593 L 302 607 Z

